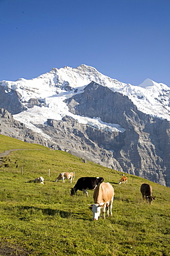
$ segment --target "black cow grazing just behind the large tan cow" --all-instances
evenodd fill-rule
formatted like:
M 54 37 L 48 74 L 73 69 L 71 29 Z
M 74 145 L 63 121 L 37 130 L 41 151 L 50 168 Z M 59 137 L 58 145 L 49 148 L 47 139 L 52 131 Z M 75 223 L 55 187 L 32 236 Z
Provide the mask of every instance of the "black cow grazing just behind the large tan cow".
M 74 185 L 74 188 L 71 190 L 71 196 L 76 194 L 77 190 L 83 191 L 83 194 L 86 194 L 88 197 L 87 190 L 94 190 L 96 186 L 102 183 L 104 179 L 102 177 L 81 177 Z

